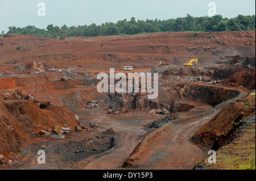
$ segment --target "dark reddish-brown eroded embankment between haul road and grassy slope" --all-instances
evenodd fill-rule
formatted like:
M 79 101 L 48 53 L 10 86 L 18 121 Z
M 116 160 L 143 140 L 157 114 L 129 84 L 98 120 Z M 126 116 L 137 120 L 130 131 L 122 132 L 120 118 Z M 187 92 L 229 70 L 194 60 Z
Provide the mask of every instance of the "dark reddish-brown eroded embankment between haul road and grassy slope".
M 204 150 L 217 150 L 232 136 L 245 117 L 255 114 L 255 93 L 247 94 L 237 102 L 229 103 L 207 124 L 201 127 L 191 141 Z

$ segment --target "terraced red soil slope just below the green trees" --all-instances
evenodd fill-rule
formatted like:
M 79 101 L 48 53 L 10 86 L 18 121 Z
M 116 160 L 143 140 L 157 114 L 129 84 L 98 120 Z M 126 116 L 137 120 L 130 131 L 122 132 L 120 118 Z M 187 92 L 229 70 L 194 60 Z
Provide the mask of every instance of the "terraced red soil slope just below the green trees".
M 211 39 L 207 37 L 212 36 Z M 216 36 L 216 37 L 214 37 Z M 193 40 L 192 40 L 193 39 Z M 20 46 L 21 49 L 16 48 Z M 208 48 L 205 51 L 205 47 Z M 75 37 L 53 40 L 35 35 L 6 35 L 0 39 L 0 64 L 18 59 L 18 64 L 44 62 L 59 68 L 150 68 L 168 60 L 180 65 L 199 58 L 205 65 L 224 55 L 255 56 L 255 31 L 166 32 L 132 36 Z M 5 69 L 3 66 L 1 69 Z

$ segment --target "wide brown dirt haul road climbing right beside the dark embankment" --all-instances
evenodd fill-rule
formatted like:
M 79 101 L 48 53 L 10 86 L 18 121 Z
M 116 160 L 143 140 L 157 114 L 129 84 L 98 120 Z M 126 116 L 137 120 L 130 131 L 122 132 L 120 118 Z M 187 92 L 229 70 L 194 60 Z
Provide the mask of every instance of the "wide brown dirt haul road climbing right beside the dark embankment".
M 195 160 L 205 157 L 205 152 L 192 144 L 189 138 L 197 129 L 207 123 L 213 116 L 213 113 L 194 119 L 185 124 L 173 125 L 163 130 L 163 134 L 154 144 L 151 145 L 150 159 L 141 169 L 160 169 L 160 170 L 190 170 L 195 165 Z

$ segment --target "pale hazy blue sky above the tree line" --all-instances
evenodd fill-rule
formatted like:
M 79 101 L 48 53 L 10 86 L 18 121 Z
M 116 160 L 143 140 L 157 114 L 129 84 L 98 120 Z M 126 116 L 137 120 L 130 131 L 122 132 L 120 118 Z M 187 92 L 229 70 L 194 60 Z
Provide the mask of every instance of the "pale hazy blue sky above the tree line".
M 45 5 L 45 16 L 39 16 L 38 3 Z M 255 15 L 255 0 L 0 0 L 0 33 L 8 27 L 28 25 L 46 29 L 53 26 L 101 25 L 132 17 L 135 20 L 191 16 L 209 16 L 210 2 L 216 5 L 216 14 L 234 18 L 238 14 Z M 43 12 L 43 11 L 40 11 Z

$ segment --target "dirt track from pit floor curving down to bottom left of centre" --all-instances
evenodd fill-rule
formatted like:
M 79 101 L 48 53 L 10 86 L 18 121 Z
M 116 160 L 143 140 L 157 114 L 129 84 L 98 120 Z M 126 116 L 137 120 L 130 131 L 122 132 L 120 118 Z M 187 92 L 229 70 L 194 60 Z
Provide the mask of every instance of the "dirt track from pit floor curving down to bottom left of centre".
M 80 114 L 81 115 L 81 114 Z M 119 148 L 112 151 L 112 153 L 104 155 L 102 157 L 94 159 L 92 162 L 86 163 L 86 165 L 81 165 L 80 169 L 122 169 L 122 165 L 125 159 L 133 152 L 134 148 L 138 145 L 139 141 L 142 139 L 142 135 L 146 133 L 143 131 L 143 125 L 151 123 L 158 115 L 151 116 L 130 116 L 128 115 L 104 115 L 97 114 L 97 116 L 92 112 L 86 113 L 86 120 L 98 121 L 102 128 L 108 129 L 112 128 L 115 132 L 119 133 L 118 141 L 121 144 Z

